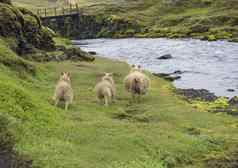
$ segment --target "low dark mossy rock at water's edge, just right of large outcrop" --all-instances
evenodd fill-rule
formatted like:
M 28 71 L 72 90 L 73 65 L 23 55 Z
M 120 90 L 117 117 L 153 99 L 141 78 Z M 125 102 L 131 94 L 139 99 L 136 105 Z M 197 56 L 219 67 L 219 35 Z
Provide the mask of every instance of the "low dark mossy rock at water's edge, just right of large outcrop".
M 67 56 L 69 60 L 76 60 L 76 61 L 94 61 L 95 60 L 95 57 L 81 50 L 79 47 L 66 49 L 65 55 Z

